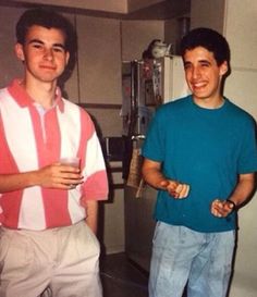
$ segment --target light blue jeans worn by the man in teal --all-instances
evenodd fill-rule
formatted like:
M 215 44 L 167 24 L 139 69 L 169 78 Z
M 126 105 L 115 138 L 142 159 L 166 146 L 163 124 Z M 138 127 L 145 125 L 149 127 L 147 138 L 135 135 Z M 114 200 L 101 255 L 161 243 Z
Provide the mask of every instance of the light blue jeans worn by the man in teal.
M 235 232 L 199 233 L 158 222 L 154 236 L 149 297 L 225 297 Z

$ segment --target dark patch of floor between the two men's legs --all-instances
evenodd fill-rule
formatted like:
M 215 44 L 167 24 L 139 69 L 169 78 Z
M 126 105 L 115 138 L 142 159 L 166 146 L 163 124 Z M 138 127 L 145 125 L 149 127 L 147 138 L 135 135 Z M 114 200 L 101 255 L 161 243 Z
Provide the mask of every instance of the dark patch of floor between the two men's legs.
M 101 259 L 103 297 L 147 297 L 147 274 L 137 269 L 125 253 Z

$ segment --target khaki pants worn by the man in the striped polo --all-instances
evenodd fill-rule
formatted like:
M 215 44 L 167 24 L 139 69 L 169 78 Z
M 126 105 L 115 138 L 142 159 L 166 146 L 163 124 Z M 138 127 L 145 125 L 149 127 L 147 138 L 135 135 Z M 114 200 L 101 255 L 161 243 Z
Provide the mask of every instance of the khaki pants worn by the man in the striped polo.
M 47 231 L 1 227 L 0 297 L 101 297 L 99 243 L 86 225 Z

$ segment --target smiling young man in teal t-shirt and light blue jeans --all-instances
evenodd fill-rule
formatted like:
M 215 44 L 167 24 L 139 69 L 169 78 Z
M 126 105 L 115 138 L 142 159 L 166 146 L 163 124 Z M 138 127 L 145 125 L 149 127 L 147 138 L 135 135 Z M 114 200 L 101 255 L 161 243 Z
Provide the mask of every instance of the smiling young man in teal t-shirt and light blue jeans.
M 236 208 L 254 190 L 255 123 L 223 97 L 230 48 L 209 28 L 181 44 L 191 96 L 160 107 L 143 148 L 145 181 L 158 189 L 149 297 L 225 297 Z

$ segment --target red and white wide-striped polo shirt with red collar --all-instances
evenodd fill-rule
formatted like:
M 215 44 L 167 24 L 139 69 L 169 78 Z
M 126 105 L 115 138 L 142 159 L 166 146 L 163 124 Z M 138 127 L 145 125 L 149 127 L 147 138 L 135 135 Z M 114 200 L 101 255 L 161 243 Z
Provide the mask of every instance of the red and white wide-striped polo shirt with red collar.
M 63 99 L 42 115 L 15 79 L 0 90 L 0 174 L 34 171 L 78 156 L 84 183 L 62 190 L 28 187 L 0 194 L 0 223 L 10 228 L 46 230 L 86 218 L 83 200 L 108 196 L 105 160 L 88 113 Z M 84 201 L 85 202 L 85 201 Z

